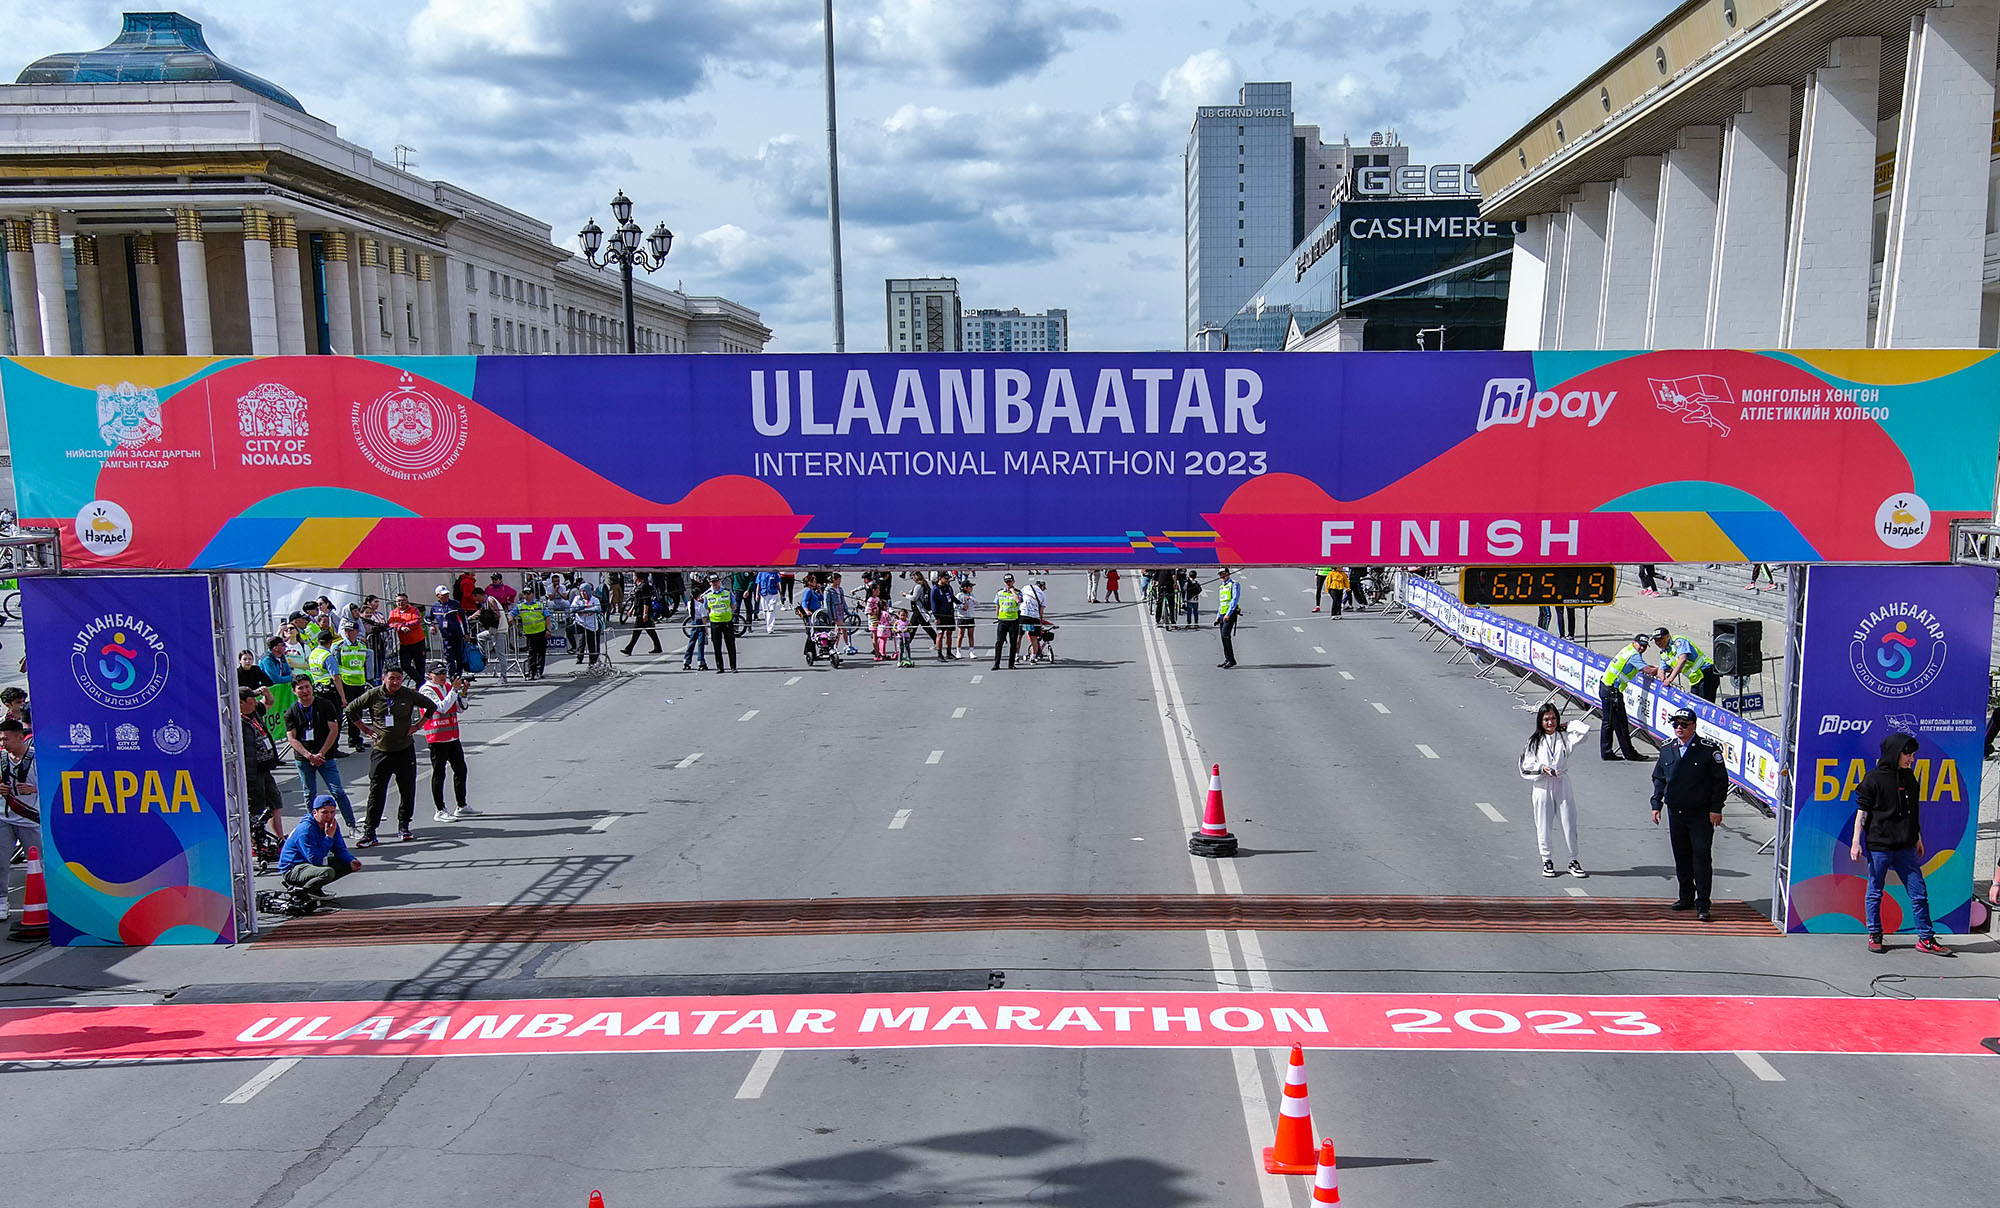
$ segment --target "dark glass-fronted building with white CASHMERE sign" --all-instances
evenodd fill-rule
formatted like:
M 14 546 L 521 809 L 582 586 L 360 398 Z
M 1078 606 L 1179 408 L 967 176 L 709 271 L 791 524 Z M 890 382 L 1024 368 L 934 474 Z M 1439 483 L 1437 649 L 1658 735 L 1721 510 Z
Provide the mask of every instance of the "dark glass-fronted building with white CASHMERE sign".
M 1340 202 L 1224 324 L 1230 352 L 1282 350 L 1294 324 L 1342 352 L 1500 348 L 1514 232 L 1478 198 Z

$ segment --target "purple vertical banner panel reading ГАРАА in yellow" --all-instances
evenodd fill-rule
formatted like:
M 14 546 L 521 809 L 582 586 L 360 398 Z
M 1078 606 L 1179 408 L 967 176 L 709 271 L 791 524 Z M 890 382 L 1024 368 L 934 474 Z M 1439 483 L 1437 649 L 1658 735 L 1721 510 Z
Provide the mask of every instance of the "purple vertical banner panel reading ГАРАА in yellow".
M 20 604 L 50 942 L 234 942 L 208 580 L 26 578 Z

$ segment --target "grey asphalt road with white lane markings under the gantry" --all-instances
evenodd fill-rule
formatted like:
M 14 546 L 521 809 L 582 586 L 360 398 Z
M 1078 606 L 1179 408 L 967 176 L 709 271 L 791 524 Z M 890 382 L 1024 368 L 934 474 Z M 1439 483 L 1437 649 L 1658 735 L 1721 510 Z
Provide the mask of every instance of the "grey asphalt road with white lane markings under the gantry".
M 996 576 L 982 576 L 990 594 Z M 1582 760 L 1590 880 L 1538 874 L 1512 770 L 1528 712 L 1380 614 L 1310 614 L 1260 570 L 1242 666 L 1052 580 L 1062 662 L 808 670 L 792 634 L 736 676 L 678 656 L 494 688 L 468 720 L 478 818 L 366 852 L 346 910 L 906 894 L 1672 896 L 1646 768 Z M 1268 596 L 1268 598 L 1266 598 Z M 1212 602 L 1212 596 L 1210 600 Z M 986 624 L 982 622 L 982 632 Z M 1584 748 L 1588 754 L 1592 748 Z M 698 758 L 694 758 L 698 754 Z M 1186 854 L 1222 766 L 1234 862 Z M 350 760 L 350 782 L 362 760 Z M 1484 808 L 1482 808 L 1484 804 Z M 1770 822 L 1732 806 L 1718 898 L 1768 908 Z M 0 964 L 0 1002 L 180 986 L 1002 970 L 1008 990 L 1918 996 L 2000 988 L 1856 938 L 1406 932 L 948 932 L 76 950 Z M 6 956 L 6 954 L 0 954 Z M 2000 1034 L 2000 1006 L 1994 1008 Z M 1990 1188 L 2000 1058 L 1314 1050 L 1354 1204 L 1902 1204 Z M 862 1048 L 16 1066 L 20 1204 L 806 1208 L 1306 1204 L 1258 1174 L 1282 1052 Z M 266 1078 L 252 1094 L 244 1094 Z M 224 1102 L 238 1098 L 242 1102 Z

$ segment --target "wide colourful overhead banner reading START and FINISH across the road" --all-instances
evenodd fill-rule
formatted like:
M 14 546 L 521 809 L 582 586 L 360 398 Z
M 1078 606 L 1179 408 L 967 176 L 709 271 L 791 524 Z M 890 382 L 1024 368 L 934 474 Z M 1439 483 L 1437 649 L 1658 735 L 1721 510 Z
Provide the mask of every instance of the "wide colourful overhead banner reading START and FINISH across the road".
M 1990 352 L 0 362 L 100 568 L 1940 562 Z

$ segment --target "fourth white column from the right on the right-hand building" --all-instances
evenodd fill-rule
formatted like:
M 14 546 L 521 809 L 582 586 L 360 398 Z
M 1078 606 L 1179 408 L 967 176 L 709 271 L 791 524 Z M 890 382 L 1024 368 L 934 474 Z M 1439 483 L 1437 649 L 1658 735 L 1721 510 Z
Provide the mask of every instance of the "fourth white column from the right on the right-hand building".
M 1708 340 L 1720 196 L 1722 128 L 1688 126 L 1660 160 L 1646 348 L 1702 348 Z

